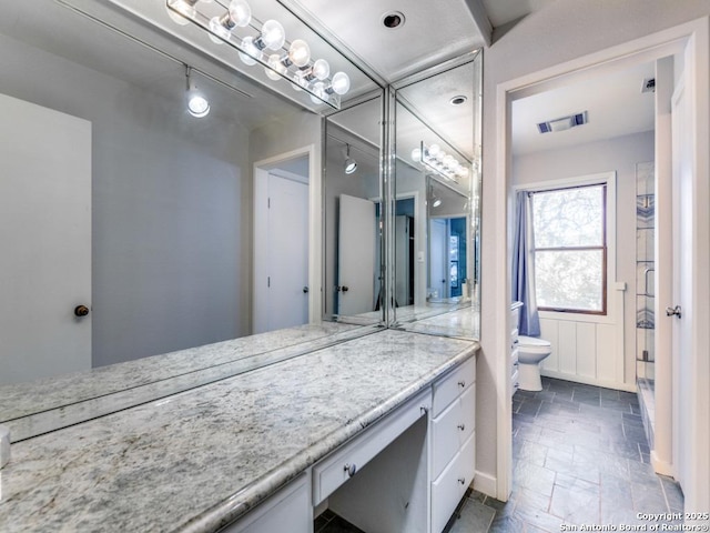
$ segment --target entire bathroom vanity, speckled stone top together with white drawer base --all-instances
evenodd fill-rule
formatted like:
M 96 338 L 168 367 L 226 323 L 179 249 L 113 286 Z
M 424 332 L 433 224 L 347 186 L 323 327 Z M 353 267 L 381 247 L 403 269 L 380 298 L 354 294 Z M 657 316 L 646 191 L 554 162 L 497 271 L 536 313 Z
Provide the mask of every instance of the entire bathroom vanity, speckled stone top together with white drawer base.
M 474 477 L 478 344 L 372 329 L 301 348 L 13 442 L 0 530 L 298 533 L 329 507 L 364 531 L 440 532 Z

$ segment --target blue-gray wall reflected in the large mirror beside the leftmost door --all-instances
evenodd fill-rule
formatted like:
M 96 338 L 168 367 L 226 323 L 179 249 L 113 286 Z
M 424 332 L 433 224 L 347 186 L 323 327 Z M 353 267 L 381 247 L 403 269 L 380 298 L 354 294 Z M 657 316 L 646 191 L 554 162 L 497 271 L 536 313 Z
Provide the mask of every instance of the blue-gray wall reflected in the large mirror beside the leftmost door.
M 247 334 L 248 132 L 2 36 L 0 72 L 92 122 L 93 364 Z

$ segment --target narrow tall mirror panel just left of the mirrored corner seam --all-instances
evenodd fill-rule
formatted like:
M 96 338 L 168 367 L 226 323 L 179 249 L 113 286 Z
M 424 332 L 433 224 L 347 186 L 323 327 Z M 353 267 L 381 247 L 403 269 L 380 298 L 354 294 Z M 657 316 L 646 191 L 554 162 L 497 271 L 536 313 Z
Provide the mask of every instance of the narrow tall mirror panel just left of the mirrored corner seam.
M 325 318 L 382 321 L 382 94 L 326 120 Z

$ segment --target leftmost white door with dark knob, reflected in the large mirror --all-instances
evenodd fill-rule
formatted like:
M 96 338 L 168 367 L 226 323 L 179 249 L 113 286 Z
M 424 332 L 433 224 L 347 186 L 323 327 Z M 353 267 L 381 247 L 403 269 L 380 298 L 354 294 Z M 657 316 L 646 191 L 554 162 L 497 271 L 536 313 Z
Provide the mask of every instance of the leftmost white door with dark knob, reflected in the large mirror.
M 91 368 L 91 123 L 0 94 L 0 384 Z

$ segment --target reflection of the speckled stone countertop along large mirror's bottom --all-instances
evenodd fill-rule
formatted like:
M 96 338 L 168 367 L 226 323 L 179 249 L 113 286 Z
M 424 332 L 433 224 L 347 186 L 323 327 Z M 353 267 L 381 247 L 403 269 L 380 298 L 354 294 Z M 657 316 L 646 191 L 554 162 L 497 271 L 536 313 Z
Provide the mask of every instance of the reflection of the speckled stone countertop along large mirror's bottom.
M 0 386 L 12 441 L 159 400 L 375 331 L 324 322 Z

